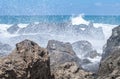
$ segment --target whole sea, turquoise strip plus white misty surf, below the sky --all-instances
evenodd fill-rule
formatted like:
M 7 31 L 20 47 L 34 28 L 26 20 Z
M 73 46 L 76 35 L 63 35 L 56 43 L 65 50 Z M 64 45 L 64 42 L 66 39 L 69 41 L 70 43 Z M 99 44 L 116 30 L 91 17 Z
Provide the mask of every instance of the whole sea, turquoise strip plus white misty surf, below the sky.
M 88 30 L 90 32 L 86 32 L 85 28 L 87 27 L 85 25 L 89 25 L 91 22 L 93 23 L 94 28 L 89 28 Z M 19 27 L 18 30 L 15 30 L 16 28 L 13 27 L 15 24 Z M 78 27 L 81 24 L 83 24 L 85 28 L 82 27 L 79 29 Z M 24 39 L 33 40 L 42 47 L 46 47 L 48 40 L 52 39 L 70 42 L 71 44 L 76 41 L 87 40 L 93 45 L 93 48 L 96 49 L 98 53 L 102 54 L 103 46 L 110 37 L 112 29 L 119 24 L 120 16 L 82 14 L 0 16 L 0 42 L 9 44 L 14 48 L 16 43 Z M 8 31 L 11 27 L 13 27 L 12 33 Z M 77 29 L 75 27 L 77 27 Z M 84 34 L 82 34 L 81 31 L 85 31 Z M 102 35 L 104 35 L 104 38 L 102 38 Z M 97 39 L 99 37 L 101 38 Z M 100 58 L 101 57 L 97 57 L 91 61 L 99 62 Z

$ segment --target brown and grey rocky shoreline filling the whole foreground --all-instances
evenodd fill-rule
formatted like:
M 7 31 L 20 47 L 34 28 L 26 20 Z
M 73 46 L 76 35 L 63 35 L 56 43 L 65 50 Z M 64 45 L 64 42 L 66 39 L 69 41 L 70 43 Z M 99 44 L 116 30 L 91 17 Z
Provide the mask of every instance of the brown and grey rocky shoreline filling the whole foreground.
M 76 53 L 84 54 L 80 58 Z M 91 62 L 86 57 L 96 56 L 99 54 L 87 41 L 70 44 L 49 40 L 42 48 L 24 40 L 12 53 L 0 58 L 0 79 L 120 79 L 120 26 L 112 30 L 98 68 L 88 66 Z M 83 64 L 91 69 L 84 69 Z

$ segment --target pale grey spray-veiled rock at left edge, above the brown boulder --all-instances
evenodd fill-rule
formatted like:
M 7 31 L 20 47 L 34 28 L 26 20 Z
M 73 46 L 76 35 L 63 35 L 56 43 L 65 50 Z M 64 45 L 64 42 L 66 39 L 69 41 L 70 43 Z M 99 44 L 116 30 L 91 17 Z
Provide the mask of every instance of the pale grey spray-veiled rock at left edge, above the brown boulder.
M 12 50 L 9 44 L 3 44 L 0 42 L 0 57 L 7 55 Z

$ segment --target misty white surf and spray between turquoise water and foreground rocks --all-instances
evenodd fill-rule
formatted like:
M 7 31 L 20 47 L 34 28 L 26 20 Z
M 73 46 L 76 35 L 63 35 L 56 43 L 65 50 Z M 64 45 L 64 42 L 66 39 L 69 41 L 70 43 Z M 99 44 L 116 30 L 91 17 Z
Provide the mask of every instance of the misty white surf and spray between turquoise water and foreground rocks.
M 87 40 L 101 54 L 102 48 L 115 26 L 117 25 L 92 23 L 90 20 L 85 20 L 83 14 L 71 16 L 68 22 L 62 23 L 0 24 L 0 42 L 14 47 L 21 40 L 31 39 L 40 46 L 46 47 L 48 40 L 51 39 L 70 43 Z M 91 61 L 99 60 L 100 58 L 91 59 Z

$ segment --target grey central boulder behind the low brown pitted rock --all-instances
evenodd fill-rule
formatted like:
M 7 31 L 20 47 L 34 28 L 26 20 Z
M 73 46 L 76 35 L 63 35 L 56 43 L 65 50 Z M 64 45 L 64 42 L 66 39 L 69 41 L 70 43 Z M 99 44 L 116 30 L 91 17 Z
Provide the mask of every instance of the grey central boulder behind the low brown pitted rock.
M 49 40 L 47 49 L 50 54 L 51 68 L 66 62 L 76 62 L 80 65 L 80 59 L 72 49 L 70 43 L 63 43 L 56 40 Z

